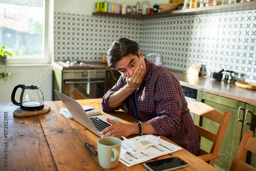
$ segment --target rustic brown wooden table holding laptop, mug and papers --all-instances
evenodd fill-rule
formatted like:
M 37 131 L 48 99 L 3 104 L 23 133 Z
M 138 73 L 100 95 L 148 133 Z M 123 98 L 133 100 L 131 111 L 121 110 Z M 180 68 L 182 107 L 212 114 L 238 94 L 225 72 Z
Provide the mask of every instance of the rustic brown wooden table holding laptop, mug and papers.
M 100 110 L 101 99 L 78 100 Z M 61 101 L 47 101 L 51 110 L 28 118 L 13 117 L 18 106 L 0 103 L 0 170 L 109 170 L 100 167 L 98 157 L 84 147 L 85 142 L 97 146 L 99 138 L 74 119 L 59 114 L 65 108 Z M 135 118 L 123 111 L 109 113 L 129 123 Z M 4 120 L 6 119 L 6 120 Z M 168 140 L 165 137 L 161 137 Z M 178 156 L 189 166 L 179 170 L 217 170 L 185 149 L 158 157 Z M 156 159 L 153 159 L 156 160 Z M 8 165 L 8 167 L 6 166 Z M 146 170 L 144 163 L 126 167 L 122 163 L 112 170 Z

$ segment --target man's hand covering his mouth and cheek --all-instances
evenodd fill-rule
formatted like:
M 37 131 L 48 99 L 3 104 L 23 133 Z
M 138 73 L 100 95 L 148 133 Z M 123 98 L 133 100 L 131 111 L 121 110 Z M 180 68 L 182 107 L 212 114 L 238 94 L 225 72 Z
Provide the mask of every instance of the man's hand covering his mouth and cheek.
M 142 66 L 140 67 L 137 67 L 133 73 L 133 75 L 130 77 L 130 74 L 129 72 L 126 73 L 126 82 L 127 82 L 127 85 L 133 89 L 133 90 L 136 90 L 140 87 L 141 83 L 142 83 L 142 80 L 144 78 L 144 69 Z

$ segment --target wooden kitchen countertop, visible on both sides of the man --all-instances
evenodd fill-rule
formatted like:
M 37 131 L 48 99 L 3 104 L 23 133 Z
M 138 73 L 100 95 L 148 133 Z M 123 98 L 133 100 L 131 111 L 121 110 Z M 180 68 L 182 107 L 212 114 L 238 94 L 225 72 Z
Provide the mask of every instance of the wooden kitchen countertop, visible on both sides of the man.
M 60 65 L 58 61 L 54 61 L 52 62 L 52 66 L 58 68 L 59 70 L 108 69 L 108 65 L 106 63 L 101 63 L 100 61 L 87 61 L 86 66 L 82 67 L 65 67 Z M 184 71 L 178 71 L 173 69 L 169 70 L 180 81 L 181 86 L 256 105 L 256 90 L 243 89 L 237 87 L 234 83 L 213 81 L 208 76 L 189 78 Z

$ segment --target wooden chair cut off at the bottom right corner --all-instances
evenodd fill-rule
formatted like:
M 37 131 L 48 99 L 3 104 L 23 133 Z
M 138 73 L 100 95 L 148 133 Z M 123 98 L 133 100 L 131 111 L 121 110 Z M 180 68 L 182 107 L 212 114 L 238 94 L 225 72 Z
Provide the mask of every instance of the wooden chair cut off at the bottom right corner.
M 247 154 L 247 151 L 250 151 L 252 153 L 256 153 L 256 138 L 253 137 L 252 131 L 245 131 L 242 140 L 240 142 L 240 145 L 238 147 L 238 151 L 236 155 L 234 156 L 233 162 L 230 166 L 230 171 L 236 170 L 236 171 L 252 171 L 256 170 L 255 167 L 250 166 L 249 164 L 244 162 L 244 158 Z

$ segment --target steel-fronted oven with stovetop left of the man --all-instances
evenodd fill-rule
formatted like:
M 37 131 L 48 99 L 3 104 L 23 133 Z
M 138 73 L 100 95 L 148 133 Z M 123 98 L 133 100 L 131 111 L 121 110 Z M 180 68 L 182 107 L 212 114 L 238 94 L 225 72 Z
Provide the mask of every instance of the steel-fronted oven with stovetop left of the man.
M 62 66 L 62 68 L 54 67 L 55 79 L 59 80 L 61 77 L 61 82 L 54 84 L 55 90 L 75 100 L 103 97 L 106 64 L 100 61 L 79 60 L 55 61 L 54 63 Z M 54 100 L 58 98 L 54 97 Z

